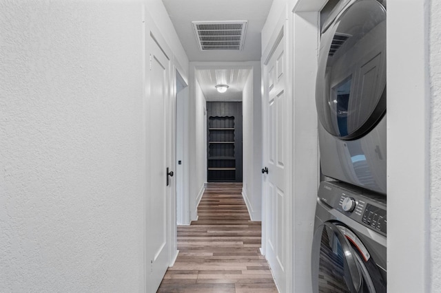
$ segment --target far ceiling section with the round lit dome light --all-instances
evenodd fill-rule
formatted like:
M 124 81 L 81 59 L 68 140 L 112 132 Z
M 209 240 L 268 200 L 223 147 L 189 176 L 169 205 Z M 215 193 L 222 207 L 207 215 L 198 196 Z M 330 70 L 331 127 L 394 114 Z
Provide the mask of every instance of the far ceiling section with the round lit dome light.
M 207 101 L 241 101 L 242 91 L 251 69 L 196 69 L 196 79 Z M 218 93 L 215 85 L 228 85 Z

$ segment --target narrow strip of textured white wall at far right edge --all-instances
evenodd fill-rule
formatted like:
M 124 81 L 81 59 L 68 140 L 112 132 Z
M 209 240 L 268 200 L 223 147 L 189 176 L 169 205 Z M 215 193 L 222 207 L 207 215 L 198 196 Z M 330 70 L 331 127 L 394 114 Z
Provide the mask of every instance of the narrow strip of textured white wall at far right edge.
M 431 292 L 441 291 L 441 3 L 431 1 Z

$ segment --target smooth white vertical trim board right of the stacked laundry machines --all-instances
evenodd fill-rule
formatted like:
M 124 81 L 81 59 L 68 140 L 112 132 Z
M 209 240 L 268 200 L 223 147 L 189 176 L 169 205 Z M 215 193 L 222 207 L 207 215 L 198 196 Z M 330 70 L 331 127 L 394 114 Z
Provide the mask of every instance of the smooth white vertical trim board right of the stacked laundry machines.
M 431 286 L 428 2 L 387 2 L 389 292 L 429 292 Z

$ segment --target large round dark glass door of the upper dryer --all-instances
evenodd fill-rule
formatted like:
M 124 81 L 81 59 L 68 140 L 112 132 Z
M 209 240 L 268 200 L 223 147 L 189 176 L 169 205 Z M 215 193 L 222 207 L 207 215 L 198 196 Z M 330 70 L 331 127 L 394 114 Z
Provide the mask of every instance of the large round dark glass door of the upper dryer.
M 386 111 L 386 10 L 359 0 L 322 34 L 316 80 L 318 118 L 342 140 L 365 135 Z

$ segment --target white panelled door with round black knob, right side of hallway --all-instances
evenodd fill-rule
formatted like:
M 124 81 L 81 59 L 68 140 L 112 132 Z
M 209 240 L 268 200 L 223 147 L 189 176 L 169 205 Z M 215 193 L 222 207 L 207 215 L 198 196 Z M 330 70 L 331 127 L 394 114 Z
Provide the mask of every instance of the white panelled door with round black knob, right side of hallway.
M 292 223 L 290 199 L 291 124 L 285 19 L 263 55 L 263 175 L 262 247 L 280 292 L 291 292 Z M 271 43 L 270 43 L 271 44 Z

